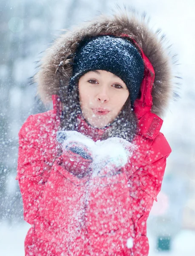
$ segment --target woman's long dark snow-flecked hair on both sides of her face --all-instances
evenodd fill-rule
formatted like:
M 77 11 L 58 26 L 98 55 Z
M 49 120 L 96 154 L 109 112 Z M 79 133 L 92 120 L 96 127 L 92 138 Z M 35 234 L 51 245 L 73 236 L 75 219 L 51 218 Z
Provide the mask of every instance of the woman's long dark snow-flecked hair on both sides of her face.
M 60 100 L 63 105 L 60 127 L 66 131 L 77 131 L 77 116 L 82 115 L 79 102 L 78 84 L 70 88 L 60 80 Z M 103 134 L 102 140 L 110 137 L 123 138 L 129 142 L 135 137 L 137 129 L 137 117 L 131 107 L 130 94 L 119 115 L 109 124 Z

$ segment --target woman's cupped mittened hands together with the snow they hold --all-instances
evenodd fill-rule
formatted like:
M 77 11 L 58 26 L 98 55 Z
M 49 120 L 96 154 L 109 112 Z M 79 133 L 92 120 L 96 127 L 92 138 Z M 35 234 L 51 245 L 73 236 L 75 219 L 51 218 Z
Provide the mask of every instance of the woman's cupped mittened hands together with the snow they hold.
M 118 137 L 94 142 L 77 131 L 58 131 L 57 140 L 62 144 L 63 163 L 81 177 L 89 171 L 93 177 L 117 175 L 135 150 L 132 143 Z

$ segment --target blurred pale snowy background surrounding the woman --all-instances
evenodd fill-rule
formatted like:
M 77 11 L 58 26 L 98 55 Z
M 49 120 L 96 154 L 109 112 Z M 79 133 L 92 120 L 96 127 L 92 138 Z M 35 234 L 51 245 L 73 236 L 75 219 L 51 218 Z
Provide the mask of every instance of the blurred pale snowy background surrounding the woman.
M 30 114 L 46 111 L 35 98 L 29 77 L 53 39 L 110 13 L 114 0 L 0 1 L 0 255 L 24 255 L 29 225 L 23 221 L 22 200 L 15 180 L 17 133 Z M 178 54 L 175 75 L 182 76 L 181 99 L 172 102 L 162 132 L 172 147 L 158 202 L 148 220 L 149 256 L 195 255 L 195 2 L 194 0 L 123 0 L 151 17 Z M 180 74 L 181 73 L 181 74 Z

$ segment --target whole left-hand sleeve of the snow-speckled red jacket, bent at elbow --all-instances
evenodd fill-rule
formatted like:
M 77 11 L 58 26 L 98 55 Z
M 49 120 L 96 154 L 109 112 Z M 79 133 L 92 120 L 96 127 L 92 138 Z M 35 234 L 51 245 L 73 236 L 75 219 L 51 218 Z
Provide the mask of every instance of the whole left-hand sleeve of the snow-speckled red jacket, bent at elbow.
M 37 131 L 33 116 L 20 129 L 16 179 L 23 198 L 24 219 L 34 228 L 35 236 L 59 242 L 69 235 L 68 223 L 83 202 L 88 177 L 72 175 L 68 170 L 75 168 L 75 163 L 68 158 L 67 164 L 62 156 L 48 159 L 44 134 L 48 135 Z

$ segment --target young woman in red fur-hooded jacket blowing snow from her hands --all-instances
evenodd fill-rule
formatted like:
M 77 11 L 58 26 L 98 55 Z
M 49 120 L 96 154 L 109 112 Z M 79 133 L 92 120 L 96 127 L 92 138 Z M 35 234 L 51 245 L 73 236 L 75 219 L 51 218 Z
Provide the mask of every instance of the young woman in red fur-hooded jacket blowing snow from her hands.
M 47 50 L 35 79 L 53 110 L 19 132 L 26 255 L 148 255 L 171 78 L 161 41 L 134 15 L 101 17 Z

